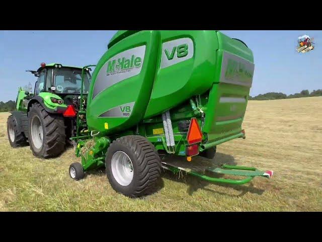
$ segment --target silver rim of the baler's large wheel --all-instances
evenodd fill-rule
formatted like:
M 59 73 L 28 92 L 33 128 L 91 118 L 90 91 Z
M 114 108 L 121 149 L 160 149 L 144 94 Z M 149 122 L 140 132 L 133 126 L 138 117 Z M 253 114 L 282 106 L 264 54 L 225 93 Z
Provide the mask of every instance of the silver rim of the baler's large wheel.
M 128 186 L 133 179 L 133 164 L 130 157 L 123 151 L 117 151 L 112 157 L 112 173 L 122 186 Z

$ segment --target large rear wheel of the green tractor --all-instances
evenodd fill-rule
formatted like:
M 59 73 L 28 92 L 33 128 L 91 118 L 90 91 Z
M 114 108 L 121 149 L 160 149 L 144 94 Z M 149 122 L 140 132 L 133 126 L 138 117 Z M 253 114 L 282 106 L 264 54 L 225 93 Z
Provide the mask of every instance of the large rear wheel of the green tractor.
M 60 155 L 66 144 L 63 116 L 48 113 L 40 103 L 34 103 L 28 118 L 29 144 L 34 156 L 52 158 Z

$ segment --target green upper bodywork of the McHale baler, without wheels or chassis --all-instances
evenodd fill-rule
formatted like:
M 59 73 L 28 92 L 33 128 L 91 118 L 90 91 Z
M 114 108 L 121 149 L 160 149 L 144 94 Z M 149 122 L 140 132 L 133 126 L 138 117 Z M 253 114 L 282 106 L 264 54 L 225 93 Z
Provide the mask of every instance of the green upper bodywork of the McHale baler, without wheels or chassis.
M 187 119 L 200 95 L 205 143 L 241 132 L 254 73 L 244 43 L 219 31 L 120 31 L 109 46 L 93 73 L 90 130 L 112 135 L 148 122 L 149 131 L 170 109 L 180 133 L 175 120 Z

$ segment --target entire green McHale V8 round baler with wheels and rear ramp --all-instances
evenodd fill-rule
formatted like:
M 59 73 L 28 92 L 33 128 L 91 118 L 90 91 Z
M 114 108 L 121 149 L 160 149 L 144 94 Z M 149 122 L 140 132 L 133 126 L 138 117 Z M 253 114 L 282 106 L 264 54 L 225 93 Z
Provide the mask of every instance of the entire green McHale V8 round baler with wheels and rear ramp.
M 252 50 L 219 31 L 118 31 L 75 106 L 71 140 L 82 163 L 69 166 L 70 177 L 105 166 L 129 197 L 155 191 L 161 169 L 237 185 L 270 177 L 213 160 L 217 145 L 246 137 L 253 74 Z

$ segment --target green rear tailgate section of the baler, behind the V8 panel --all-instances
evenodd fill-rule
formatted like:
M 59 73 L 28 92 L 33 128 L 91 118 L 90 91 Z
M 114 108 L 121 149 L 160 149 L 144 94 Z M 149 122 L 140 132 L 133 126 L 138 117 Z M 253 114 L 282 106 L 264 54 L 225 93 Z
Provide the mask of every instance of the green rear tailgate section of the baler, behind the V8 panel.
M 209 92 L 203 132 L 208 143 L 241 133 L 252 86 L 252 51 L 243 43 L 218 34 L 215 84 Z M 243 56 L 243 57 L 241 57 Z

